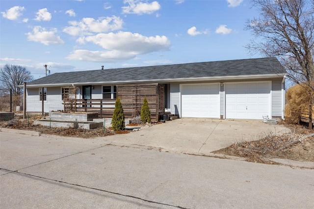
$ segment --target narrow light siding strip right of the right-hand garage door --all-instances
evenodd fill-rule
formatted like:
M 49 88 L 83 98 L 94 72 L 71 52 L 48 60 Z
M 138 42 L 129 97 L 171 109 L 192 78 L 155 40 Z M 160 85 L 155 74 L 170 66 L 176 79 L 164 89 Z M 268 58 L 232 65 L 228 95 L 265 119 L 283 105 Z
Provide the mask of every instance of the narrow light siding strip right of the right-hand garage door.
M 272 116 L 282 116 L 282 79 L 272 81 Z

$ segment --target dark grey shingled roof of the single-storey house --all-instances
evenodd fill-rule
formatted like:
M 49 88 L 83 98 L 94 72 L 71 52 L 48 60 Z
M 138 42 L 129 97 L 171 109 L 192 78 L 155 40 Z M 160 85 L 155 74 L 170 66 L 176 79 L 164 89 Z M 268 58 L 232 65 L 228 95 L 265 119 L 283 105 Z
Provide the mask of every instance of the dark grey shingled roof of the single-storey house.
M 282 73 L 286 73 L 286 70 L 276 58 L 270 57 L 136 68 L 60 72 L 31 81 L 27 83 L 27 86 L 41 84 L 57 85 L 149 80 L 162 81 L 169 79 Z

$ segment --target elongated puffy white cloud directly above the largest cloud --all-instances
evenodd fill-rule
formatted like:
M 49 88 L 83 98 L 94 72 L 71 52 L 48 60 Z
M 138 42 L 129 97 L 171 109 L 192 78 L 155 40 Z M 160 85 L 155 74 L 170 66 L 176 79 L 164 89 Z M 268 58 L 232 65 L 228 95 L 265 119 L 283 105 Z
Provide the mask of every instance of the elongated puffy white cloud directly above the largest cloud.
M 69 24 L 71 26 L 65 27 L 63 32 L 72 36 L 78 36 L 121 29 L 123 20 L 116 16 L 98 18 L 98 20 L 83 18 L 80 22 L 70 21 Z

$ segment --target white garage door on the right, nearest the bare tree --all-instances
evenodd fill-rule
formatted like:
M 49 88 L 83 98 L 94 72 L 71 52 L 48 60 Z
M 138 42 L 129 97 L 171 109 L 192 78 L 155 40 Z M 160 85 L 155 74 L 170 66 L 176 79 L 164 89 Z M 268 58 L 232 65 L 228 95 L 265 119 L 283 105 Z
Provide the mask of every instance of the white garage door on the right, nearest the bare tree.
M 262 119 L 269 116 L 270 83 L 226 84 L 226 118 Z

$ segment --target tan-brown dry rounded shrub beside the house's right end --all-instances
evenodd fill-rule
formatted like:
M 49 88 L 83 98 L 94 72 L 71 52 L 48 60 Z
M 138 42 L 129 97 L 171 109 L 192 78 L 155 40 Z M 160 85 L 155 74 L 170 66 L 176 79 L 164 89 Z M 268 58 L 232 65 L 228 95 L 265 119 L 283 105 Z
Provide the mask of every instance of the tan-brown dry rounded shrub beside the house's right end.
M 312 99 L 309 92 L 313 93 L 305 84 L 297 84 L 288 89 L 286 93 L 287 104 L 285 110 L 285 118 L 288 123 L 299 123 L 302 113 L 309 112 Z

